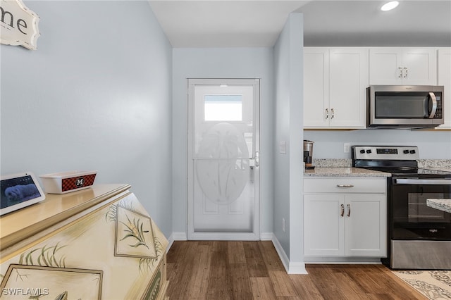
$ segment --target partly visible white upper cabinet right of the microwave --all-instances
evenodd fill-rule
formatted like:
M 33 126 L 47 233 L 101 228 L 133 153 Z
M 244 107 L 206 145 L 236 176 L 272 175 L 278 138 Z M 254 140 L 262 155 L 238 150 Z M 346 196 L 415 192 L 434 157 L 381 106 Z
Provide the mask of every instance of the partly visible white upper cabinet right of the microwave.
M 445 87 L 443 113 L 445 123 L 435 129 L 451 129 L 451 48 L 438 49 L 437 83 Z

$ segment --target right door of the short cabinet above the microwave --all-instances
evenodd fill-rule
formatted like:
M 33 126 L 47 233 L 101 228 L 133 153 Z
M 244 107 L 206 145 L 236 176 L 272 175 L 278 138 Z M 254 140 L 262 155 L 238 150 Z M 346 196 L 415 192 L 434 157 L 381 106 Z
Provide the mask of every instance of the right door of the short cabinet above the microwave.
M 402 50 L 403 85 L 437 85 L 437 50 Z

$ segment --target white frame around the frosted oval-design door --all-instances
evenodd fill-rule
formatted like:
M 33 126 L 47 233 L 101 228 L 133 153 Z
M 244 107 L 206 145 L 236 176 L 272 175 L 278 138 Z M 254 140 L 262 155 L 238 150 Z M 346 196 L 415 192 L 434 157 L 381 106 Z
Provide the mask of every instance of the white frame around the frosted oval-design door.
M 254 222 L 253 232 L 194 232 L 194 161 L 192 160 L 192 132 L 194 132 L 194 86 L 195 85 L 243 85 L 253 87 L 253 122 L 255 149 L 260 152 L 260 79 L 259 78 L 188 78 L 187 116 L 187 239 L 188 240 L 248 240 L 260 239 L 260 168 L 254 167 Z

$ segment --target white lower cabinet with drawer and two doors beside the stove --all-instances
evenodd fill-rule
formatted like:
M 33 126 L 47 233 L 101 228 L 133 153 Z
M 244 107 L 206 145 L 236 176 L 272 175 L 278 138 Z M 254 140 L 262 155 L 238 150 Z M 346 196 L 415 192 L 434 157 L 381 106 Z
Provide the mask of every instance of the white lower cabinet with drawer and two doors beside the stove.
M 304 179 L 304 256 L 387 255 L 387 194 L 381 179 Z

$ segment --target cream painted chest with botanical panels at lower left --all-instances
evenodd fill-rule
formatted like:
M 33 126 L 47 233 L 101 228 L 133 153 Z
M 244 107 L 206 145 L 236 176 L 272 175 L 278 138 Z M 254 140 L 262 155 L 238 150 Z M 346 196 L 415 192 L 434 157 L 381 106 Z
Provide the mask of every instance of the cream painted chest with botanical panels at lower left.
M 0 299 L 165 299 L 168 241 L 125 187 L 121 192 L 99 186 L 49 196 L 57 211 L 73 201 L 78 212 L 68 218 L 63 209 L 61 220 L 42 234 L 23 239 L 13 249 L 1 248 L 0 291 L 27 294 L 0 294 Z M 23 213 L 30 218 L 27 211 L 16 215 Z M 2 216 L 2 225 L 4 220 Z

